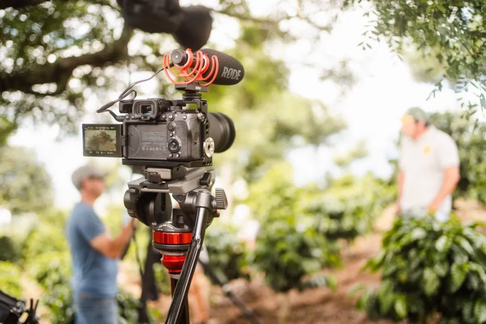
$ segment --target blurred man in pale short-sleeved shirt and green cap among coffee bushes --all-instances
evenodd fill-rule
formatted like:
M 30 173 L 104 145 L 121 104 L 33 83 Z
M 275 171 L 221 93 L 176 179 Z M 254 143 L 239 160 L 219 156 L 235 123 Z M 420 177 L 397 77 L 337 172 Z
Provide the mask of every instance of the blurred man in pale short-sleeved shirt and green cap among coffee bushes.
M 459 182 L 459 154 L 448 134 L 430 126 L 425 112 L 410 108 L 402 118 L 397 212 L 433 213 L 449 219 L 451 193 Z

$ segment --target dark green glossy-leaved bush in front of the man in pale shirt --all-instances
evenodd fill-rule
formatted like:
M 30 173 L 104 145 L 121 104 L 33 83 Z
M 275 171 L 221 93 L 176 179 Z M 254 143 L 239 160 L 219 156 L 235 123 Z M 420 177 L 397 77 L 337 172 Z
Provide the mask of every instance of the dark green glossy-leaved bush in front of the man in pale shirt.
M 486 323 L 486 238 L 477 224 L 400 218 L 365 269 L 381 271 L 378 290 L 358 300 L 371 319 Z

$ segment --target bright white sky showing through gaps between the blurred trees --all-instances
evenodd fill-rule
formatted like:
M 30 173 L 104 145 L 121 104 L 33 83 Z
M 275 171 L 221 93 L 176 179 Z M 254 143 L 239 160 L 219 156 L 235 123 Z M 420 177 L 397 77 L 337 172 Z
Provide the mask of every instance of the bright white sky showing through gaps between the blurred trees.
M 181 1 L 181 4 L 183 2 Z M 272 1 L 250 0 L 250 2 L 252 10 L 256 13 L 265 13 L 272 8 Z M 207 5 L 210 6 L 209 3 Z M 306 50 L 312 44 L 305 41 L 297 42 L 275 51 L 277 56 L 286 57 L 292 69 L 290 78 L 292 91 L 308 98 L 321 100 L 329 106 L 332 113 L 342 114 L 347 119 L 349 128 L 342 141 L 342 147 L 333 148 L 333 152 L 346 151 L 346 148 L 353 146 L 357 140 L 365 139 L 370 155 L 363 163 L 356 165 L 355 171 L 362 173 L 372 170 L 386 176 L 391 171 L 386 161 L 396 155 L 394 141 L 397 139 L 399 118 L 403 112 L 413 105 L 419 105 L 426 111 L 455 109 L 458 106 L 457 95 L 446 89 L 435 99 L 426 101 L 433 85 L 415 82 L 409 68 L 390 53 L 387 46 L 374 46 L 372 50 L 367 51 L 357 47 L 362 40 L 360 35 L 363 33 L 365 24 L 366 20 L 363 19 L 362 13 L 343 15 L 332 34 L 326 37 L 324 42 L 314 44 L 316 48 L 313 52 L 322 53 L 322 57 L 333 56 L 336 60 L 344 57 L 351 59 L 352 70 L 359 80 L 342 97 L 337 96 L 336 85 L 320 82 L 314 76 L 314 71 L 295 68 L 291 63 L 299 57 L 299 52 Z M 226 17 L 217 17 L 210 41 L 229 44 L 226 40 L 237 33 L 238 29 L 234 21 Z M 114 93 L 113 97 L 117 95 L 118 93 Z M 83 121 L 93 122 L 96 117 L 94 110 L 97 108 L 87 108 L 87 111 L 93 114 L 88 113 Z M 34 132 L 32 127 L 26 125 L 11 137 L 10 144 L 35 149 L 38 159 L 45 163 L 52 176 L 55 203 L 69 208 L 79 199 L 79 193 L 71 184 L 71 173 L 85 164 L 87 158 L 82 155 L 81 135 L 65 137 L 60 142 L 55 140 L 56 135 L 55 126 L 41 126 Z M 297 183 L 311 181 L 323 175 L 329 169 L 333 152 L 320 150 L 315 154 L 309 148 L 295 150 L 290 159 L 295 165 Z M 112 164 L 115 160 L 98 159 L 98 161 Z M 312 168 L 309 168 L 310 164 Z M 122 197 L 120 202 L 121 199 Z M 106 203 L 107 200 L 104 201 Z

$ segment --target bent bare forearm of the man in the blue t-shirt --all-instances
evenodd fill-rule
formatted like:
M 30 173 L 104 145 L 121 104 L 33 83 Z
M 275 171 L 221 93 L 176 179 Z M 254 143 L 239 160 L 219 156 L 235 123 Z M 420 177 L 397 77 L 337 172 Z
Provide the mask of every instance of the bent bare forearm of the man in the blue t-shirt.
M 115 239 L 112 239 L 107 232 L 98 235 L 89 241 L 89 244 L 98 252 L 106 257 L 117 259 L 120 258 L 126 244 L 131 239 L 133 234 L 133 225 L 136 220 L 122 227 L 121 233 Z

